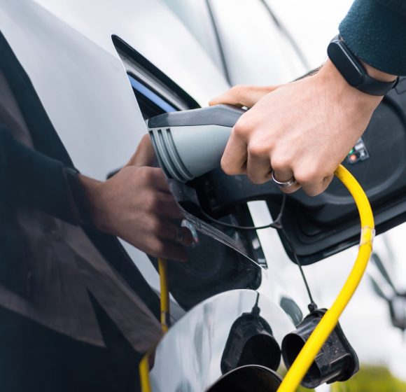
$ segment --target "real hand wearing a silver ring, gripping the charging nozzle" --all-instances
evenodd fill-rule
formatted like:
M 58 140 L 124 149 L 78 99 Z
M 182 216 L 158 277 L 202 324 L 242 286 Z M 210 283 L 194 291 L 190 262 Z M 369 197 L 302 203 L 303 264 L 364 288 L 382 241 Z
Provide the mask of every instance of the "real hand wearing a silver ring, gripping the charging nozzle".
M 233 87 L 210 104 L 253 107 L 233 128 L 221 166 L 230 175 L 247 174 L 253 183 L 269 181 L 272 168 L 278 181 L 295 177 L 297 184 L 284 192 L 302 187 L 308 195 L 318 195 L 365 131 L 381 98 L 348 85 L 330 60 L 318 73 L 286 85 Z

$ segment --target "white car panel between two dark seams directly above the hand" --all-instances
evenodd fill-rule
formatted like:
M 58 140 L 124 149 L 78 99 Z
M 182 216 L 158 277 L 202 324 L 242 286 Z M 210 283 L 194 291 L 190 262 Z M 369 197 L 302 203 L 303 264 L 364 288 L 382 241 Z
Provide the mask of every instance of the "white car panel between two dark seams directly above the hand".
M 211 0 L 232 84 L 288 83 L 306 70 L 258 0 Z

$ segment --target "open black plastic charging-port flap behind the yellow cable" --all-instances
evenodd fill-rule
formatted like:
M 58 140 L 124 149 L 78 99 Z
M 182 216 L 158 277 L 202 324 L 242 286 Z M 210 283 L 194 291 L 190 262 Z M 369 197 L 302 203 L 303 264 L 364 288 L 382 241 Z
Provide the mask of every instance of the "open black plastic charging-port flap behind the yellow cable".
M 406 78 L 384 97 L 363 134 L 370 158 L 343 165 L 370 200 L 377 234 L 406 221 Z M 272 215 L 278 207 L 268 203 Z M 358 244 L 360 221 L 349 191 L 333 179 L 325 193 L 288 197 L 283 226 L 300 261 L 311 264 Z M 286 252 L 289 246 L 281 238 Z

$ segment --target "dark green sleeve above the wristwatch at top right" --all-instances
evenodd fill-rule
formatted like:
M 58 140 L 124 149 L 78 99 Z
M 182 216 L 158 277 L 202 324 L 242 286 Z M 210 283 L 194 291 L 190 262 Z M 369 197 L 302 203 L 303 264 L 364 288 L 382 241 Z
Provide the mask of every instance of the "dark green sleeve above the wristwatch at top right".
M 367 64 L 406 75 L 406 0 L 355 0 L 339 34 Z

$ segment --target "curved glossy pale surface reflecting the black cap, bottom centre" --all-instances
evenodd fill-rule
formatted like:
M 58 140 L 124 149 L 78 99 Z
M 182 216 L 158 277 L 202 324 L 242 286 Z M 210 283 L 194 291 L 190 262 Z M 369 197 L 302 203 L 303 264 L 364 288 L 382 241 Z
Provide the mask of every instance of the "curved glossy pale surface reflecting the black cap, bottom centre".
M 150 372 L 153 391 L 205 391 L 214 384 L 222 375 L 232 324 L 254 307 L 259 307 L 280 346 L 293 323 L 279 307 L 251 290 L 216 295 L 191 309 L 160 341 Z

